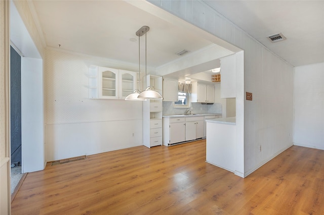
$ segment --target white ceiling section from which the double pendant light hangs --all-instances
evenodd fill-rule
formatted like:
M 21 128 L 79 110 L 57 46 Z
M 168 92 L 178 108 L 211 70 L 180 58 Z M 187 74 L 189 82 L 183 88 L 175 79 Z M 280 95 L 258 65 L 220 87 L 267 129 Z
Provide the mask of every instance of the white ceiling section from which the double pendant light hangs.
M 33 5 L 50 47 L 60 44 L 61 49 L 138 64 L 135 33 L 146 25 L 150 27 L 147 65 L 156 68 L 179 59 L 176 52 L 212 44 L 124 1 L 34 1 Z M 140 42 L 144 60 L 144 36 Z

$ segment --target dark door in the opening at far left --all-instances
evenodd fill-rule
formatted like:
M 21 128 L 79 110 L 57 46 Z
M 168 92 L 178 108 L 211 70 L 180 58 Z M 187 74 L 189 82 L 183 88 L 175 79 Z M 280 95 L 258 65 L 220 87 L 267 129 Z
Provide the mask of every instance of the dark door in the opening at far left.
M 21 57 L 10 47 L 11 164 L 21 164 Z

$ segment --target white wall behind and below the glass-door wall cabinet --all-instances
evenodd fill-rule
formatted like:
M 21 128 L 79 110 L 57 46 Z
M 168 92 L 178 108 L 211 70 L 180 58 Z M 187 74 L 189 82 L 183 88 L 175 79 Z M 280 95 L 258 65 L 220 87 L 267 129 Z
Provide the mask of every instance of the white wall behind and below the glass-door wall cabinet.
M 142 102 L 89 99 L 90 65 L 134 69 L 121 62 L 46 50 L 47 161 L 143 145 Z

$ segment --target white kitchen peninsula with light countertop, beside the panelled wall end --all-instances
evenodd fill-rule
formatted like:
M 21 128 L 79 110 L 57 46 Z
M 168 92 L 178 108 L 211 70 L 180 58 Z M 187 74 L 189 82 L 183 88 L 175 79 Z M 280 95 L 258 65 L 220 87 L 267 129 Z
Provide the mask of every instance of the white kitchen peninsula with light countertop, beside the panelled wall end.
M 235 171 L 236 118 L 206 119 L 206 162 Z

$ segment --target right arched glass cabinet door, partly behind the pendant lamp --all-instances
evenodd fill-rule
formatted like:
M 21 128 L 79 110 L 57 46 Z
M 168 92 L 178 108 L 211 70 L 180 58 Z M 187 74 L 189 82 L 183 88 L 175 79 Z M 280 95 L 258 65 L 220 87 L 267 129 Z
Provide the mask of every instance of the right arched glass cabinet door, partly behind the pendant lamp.
M 127 70 L 119 70 L 119 98 L 125 99 L 126 96 L 136 90 L 137 74 Z

